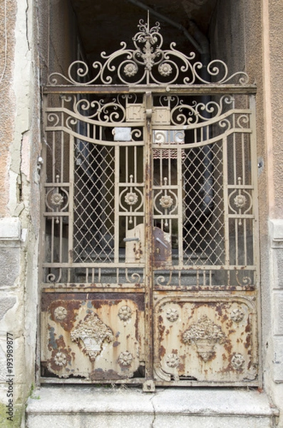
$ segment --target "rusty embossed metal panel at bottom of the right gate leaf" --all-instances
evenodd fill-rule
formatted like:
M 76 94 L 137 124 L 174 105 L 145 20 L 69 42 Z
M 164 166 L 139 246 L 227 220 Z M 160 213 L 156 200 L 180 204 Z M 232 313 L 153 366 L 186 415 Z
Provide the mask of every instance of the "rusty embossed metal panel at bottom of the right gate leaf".
M 155 306 L 155 379 L 197 382 L 257 379 L 254 301 L 235 296 L 177 296 Z

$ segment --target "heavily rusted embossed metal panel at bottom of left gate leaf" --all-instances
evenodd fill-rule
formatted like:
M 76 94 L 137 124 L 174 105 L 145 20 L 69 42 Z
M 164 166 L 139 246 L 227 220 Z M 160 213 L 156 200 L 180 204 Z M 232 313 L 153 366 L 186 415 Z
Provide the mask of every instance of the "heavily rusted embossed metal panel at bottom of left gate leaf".
M 93 381 L 143 377 L 143 295 L 45 293 L 41 322 L 47 372 Z

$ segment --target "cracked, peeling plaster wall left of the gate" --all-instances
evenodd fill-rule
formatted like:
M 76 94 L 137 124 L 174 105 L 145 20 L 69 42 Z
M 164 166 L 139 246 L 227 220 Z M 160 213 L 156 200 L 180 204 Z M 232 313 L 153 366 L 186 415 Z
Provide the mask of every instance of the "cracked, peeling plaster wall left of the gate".
M 37 13 L 36 0 L 0 4 L 0 427 L 7 426 L 6 332 L 14 337 L 11 427 L 21 426 L 34 382 L 41 153 Z

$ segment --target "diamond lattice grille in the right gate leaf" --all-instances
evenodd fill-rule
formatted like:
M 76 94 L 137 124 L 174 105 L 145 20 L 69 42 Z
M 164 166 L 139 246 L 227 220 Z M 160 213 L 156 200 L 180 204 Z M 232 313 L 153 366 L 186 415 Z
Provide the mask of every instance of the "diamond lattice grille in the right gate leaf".
M 222 168 L 220 144 L 186 151 L 183 237 L 187 265 L 224 263 Z

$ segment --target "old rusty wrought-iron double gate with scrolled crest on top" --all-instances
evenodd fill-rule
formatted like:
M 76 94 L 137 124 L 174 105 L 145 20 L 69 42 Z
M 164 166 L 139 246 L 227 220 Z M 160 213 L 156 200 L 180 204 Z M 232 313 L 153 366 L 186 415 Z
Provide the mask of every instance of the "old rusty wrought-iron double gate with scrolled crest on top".
M 255 88 L 133 42 L 44 88 L 42 382 L 257 385 Z

